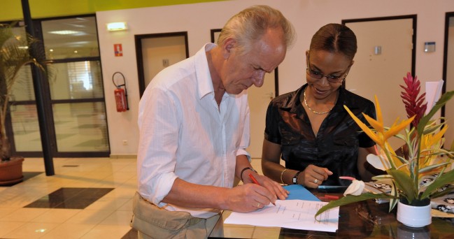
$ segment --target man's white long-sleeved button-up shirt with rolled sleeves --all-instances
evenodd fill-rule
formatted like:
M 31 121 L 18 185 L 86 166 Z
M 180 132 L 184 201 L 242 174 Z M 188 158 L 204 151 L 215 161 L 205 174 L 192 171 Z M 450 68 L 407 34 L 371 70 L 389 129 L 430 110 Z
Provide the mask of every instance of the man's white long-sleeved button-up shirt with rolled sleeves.
M 139 193 L 166 210 L 208 218 L 220 210 L 178 208 L 162 203 L 178 177 L 194 184 L 232 187 L 236 155 L 247 155 L 250 142 L 246 91 L 214 99 L 205 52 L 158 73 L 139 103 Z

